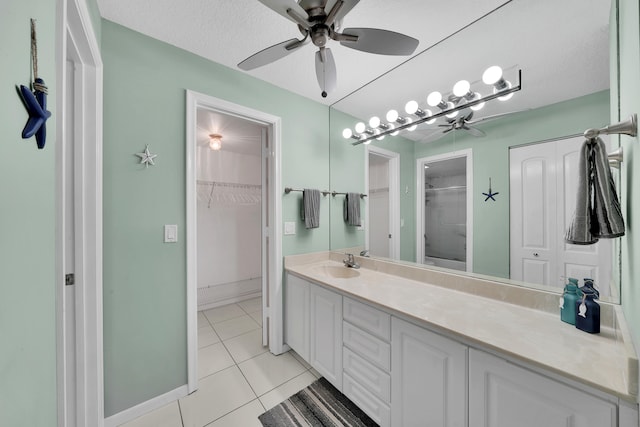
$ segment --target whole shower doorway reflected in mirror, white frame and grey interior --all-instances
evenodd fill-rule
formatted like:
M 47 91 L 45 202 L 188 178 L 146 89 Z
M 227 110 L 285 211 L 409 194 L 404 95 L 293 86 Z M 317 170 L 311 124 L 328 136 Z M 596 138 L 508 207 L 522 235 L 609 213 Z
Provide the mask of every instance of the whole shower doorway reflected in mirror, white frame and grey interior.
M 472 271 L 471 151 L 418 160 L 418 262 Z

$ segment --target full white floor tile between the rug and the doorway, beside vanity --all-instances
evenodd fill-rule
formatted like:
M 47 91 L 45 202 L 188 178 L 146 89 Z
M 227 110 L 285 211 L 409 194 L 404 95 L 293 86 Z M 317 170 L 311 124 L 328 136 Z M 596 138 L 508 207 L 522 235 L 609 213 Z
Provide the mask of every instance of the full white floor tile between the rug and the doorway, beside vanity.
M 274 356 L 269 352 L 246 360 L 238 364 L 238 367 L 258 396 L 273 390 L 306 370 L 288 353 Z

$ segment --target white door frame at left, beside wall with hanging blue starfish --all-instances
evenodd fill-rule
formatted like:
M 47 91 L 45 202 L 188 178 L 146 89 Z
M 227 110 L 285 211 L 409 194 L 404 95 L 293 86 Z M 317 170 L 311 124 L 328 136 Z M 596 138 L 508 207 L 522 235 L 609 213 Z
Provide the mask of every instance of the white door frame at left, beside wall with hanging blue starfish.
M 77 425 L 104 424 L 102 340 L 102 111 L 103 64 L 84 1 L 60 0 L 56 17 L 56 344 L 58 425 L 67 425 L 75 408 Z M 70 46 L 69 43 L 73 45 Z M 67 129 L 67 53 L 78 62 L 74 86 L 74 129 Z M 73 133 L 74 160 L 67 164 L 64 144 Z M 74 170 L 75 306 L 65 303 L 65 170 Z M 75 312 L 76 381 L 68 384 L 65 312 Z M 75 388 L 76 397 L 68 393 Z

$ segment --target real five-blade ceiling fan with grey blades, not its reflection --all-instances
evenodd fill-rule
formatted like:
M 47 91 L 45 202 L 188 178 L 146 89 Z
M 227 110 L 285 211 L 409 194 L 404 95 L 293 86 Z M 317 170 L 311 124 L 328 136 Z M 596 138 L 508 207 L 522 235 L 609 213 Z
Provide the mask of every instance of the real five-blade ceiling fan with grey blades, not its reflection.
M 336 64 L 329 39 L 342 46 L 380 55 L 411 55 L 419 41 L 413 37 L 377 28 L 345 28 L 342 19 L 360 0 L 259 0 L 262 4 L 298 25 L 302 39 L 290 39 L 255 53 L 238 64 L 248 71 L 284 58 L 309 42 L 318 47 L 316 77 L 326 97 L 336 87 Z

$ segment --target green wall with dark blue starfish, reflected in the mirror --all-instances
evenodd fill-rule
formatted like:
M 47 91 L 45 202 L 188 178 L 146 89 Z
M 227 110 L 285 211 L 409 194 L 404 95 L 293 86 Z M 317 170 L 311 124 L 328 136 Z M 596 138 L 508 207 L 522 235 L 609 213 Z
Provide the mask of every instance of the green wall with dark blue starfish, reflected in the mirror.
M 516 93 L 515 96 L 518 96 Z M 509 277 L 509 147 L 583 132 L 609 121 L 609 91 L 510 115 L 477 127 L 487 136 L 450 132 L 427 144 L 416 144 L 416 159 L 471 148 L 473 150 L 473 271 Z M 496 202 L 484 201 L 491 178 Z M 490 248 L 490 250 L 487 250 Z

